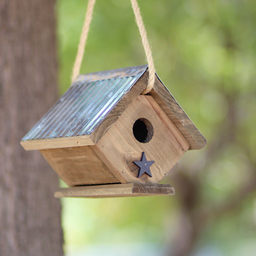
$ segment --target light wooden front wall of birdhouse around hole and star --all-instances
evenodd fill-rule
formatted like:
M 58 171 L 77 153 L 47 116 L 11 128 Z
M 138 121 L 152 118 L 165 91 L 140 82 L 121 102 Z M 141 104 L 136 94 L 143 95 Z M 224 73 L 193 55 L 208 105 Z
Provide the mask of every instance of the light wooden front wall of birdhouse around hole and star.
M 154 127 L 153 138 L 147 143 L 140 143 L 133 135 L 134 122 L 139 118 L 146 118 Z M 121 183 L 158 183 L 188 150 L 189 144 L 154 98 L 140 95 L 91 147 Z M 143 174 L 137 178 L 139 168 L 133 161 L 140 161 L 142 152 L 148 161 L 155 161 L 151 166 L 153 177 Z

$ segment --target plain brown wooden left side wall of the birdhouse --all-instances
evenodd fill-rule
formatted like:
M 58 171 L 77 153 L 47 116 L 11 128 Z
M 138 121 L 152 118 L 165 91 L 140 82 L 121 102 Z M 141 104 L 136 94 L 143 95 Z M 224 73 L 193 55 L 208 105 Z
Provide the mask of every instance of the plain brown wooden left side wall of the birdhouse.
M 69 186 L 120 182 L 90 146 L 40 150 Z

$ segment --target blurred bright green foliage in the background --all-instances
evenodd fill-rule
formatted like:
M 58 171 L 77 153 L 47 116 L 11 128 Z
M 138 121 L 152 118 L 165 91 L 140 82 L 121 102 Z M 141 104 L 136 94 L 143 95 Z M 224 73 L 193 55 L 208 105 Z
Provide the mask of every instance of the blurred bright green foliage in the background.
M 68 251 L 89 243 L 172 244 L 184 211 L 184 185 L 176 184 L 176 174 L 196 180 L 193 210 L 225 204 L 255 177 L 256 2 L 138 3 L 157 73 L 208 143 L 201 151 L 186 153 L 166 178 L 177 196 L 63 199 Z M 84 0 L 57 2 L 61 94 L 70 86 L 86 7 Z M 98 0 L 81 73 L 145 63 L 130 1 Z M 219 254 L 211 255 L 252 255 L 255 228 L 256 201 L 250 194 L 235 210 L 213 214 L 195 244 L 199 251 L 207 245 L 218 248 Z

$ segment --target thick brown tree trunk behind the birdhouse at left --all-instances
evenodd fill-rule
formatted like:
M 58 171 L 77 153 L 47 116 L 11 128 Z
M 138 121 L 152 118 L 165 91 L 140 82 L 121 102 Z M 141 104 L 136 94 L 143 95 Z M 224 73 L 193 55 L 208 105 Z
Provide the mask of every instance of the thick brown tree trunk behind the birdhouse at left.
M 0 1 L 0 255 L 59 256 L 58 177 L 19 141 L 57 97 L 53 0 Z

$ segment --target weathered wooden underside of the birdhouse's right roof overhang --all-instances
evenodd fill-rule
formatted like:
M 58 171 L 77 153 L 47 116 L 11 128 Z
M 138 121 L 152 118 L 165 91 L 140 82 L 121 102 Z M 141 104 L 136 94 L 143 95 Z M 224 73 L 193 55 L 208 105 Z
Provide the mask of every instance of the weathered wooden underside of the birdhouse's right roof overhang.
M 157 76 L 154 89 L 150 92 L 150 95 L 154 97 L 165 114 L 173 121 L 181 134 L 186 138 L 190 144 L 189 150 L 199 150 L 205 146 L 206 139 Z

